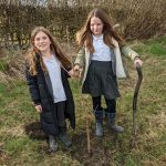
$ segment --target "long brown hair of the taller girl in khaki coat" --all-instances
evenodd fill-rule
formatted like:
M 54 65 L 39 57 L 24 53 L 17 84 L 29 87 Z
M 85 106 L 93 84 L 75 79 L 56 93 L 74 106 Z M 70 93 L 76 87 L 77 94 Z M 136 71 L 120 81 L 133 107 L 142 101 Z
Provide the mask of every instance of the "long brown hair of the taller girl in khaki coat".
M 124 42 L 124 40 L 114 30 L 110 17 L 102 9 L 96 8 L 89 13 L 83 28 L 76 32 L 76 42 L 79 44 L 79 49 L 85 45 L 90 50 L 90 52 L 94 52 L 92 43 L 92 32 L 90 29 L 92 17 L 101 19 L 104 24 L 103 35 L 105 44 L 107 44 L 108 46 L 114 46 L 112 38 L 114 38 L 120 44 Z

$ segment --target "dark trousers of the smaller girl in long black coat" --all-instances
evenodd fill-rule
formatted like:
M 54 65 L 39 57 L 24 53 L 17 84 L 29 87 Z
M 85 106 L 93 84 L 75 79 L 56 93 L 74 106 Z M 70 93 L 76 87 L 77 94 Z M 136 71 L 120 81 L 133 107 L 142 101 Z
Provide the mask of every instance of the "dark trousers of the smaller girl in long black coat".
M 65 101 L 54 103 L 53 116 L 56 118 L 56 121 L 58 121 L 56 123 L 58 123 L 59 127 L 65 127 L 66 126 L 64 110 L 65 110 Z

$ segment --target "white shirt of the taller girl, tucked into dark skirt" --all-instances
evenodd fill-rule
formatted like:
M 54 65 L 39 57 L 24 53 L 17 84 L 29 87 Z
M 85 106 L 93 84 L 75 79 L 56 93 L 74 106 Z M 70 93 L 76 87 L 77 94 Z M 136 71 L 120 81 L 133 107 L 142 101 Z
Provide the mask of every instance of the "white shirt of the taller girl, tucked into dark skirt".
M 95 52 L 92 54 L 91 60 L 95 61 L 111 61 L 111 50 L 103 41 L 103 34 L 100 37 L 93 37 L 93 46 Z

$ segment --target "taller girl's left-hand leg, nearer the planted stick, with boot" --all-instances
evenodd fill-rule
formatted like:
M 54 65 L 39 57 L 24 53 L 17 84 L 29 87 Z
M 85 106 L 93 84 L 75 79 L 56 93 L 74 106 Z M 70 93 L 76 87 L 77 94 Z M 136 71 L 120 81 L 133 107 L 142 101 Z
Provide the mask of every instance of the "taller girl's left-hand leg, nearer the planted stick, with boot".
M 103 136 L 103 110 L 101 106 L 101 96 L 92 97 L 93 101 L 93 111 L 96 121 L 95 134 L 98 137 Z

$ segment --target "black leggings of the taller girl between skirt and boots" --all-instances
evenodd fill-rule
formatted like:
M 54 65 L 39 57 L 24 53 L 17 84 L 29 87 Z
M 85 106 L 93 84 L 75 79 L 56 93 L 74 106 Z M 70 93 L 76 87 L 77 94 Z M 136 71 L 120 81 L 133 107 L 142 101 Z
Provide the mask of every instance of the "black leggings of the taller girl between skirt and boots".
M 108 113 L 115 113 L 116 112 L 116 100 L 107 100 L 105 98 L 105 103 L 106 103 L 106 112 Z M 92 97 L 92 102 L 93 102 L 93 110 L 94 111 L 101 111 L 102 108 L 102 104 L 101 104 L 101 96 L 97 97 Z

